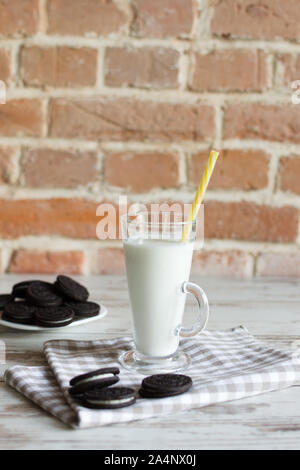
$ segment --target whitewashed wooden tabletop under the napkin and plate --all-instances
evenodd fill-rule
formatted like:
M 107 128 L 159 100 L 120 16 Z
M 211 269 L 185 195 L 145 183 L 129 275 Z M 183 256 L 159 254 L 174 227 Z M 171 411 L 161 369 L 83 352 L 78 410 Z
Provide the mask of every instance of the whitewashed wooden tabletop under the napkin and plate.
M 34 276 L 37 278 L 37 276 Z M 0 276 L 0 292 L 29 276 Z M 53 276 L 39 276 L 53 279 Z M 48 339 L 93 340 L 130 331 L 123 277 L 78 278 L 108 307 L 97 323 L 50 333 L 25 333 L 0 327 L 7 363 L 0 378 L 0 449 L 299 449 L 300 387 L 128 424 L 72 430 L 47 415 L 2 378 L 12 364 L 40 365 Z M 211 316 L 208 328 L 245 325 L 277 346 L 300 347 L 300 281 L 231 281 L 193 279 L 206 290 Z M 195 309 L 187 306 L 187 319 Z

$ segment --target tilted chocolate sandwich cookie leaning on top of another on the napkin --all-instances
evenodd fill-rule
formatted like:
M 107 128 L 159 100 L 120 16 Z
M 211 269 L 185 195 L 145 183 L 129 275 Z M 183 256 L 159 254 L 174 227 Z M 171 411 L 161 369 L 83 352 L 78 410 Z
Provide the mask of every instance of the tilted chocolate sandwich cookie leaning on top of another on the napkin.
M 120 380 L 117 376 L 119 373 L 118 367 L 104 367 L 87 374 L 78 375 L 70 381 L 71 388 L 69 388 L 69 393 L 75 396 L 81 395 L 94 387 L 99 389 L 109 387 Z

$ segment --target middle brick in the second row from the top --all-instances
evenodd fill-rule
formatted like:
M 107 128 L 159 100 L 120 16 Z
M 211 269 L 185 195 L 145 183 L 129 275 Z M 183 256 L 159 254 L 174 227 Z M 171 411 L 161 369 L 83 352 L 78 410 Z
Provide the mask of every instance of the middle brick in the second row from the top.
M 109 86 L 177 88 L 179 52 L 166 47 L 109 47 L 106 78 Z

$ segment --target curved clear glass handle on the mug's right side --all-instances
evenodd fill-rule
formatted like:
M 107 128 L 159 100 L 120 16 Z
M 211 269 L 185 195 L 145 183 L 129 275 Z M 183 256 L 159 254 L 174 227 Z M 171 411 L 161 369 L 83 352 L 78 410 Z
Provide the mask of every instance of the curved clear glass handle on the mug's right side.
M 207 324 L 209 317 L 208 299 L 204 290 L 193 282 L 184 282 L 182 284 L 182 292 L 184 294 L 192 294 L 195 297 L 199 307 L 199 314 L 193 326 L 190 328 L 185 328 L 180 325 L 178 327 L 179 336 L 189 338 L 200 333 L 200 331 L 202 331 Z

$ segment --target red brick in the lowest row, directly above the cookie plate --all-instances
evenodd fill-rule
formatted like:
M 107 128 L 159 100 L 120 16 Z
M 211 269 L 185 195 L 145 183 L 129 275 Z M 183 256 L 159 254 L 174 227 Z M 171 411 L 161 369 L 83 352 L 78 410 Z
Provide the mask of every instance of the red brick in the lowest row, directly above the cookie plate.
M 81 274 L 82 251 L 16 250 L 9 263 L 11 273 Z

